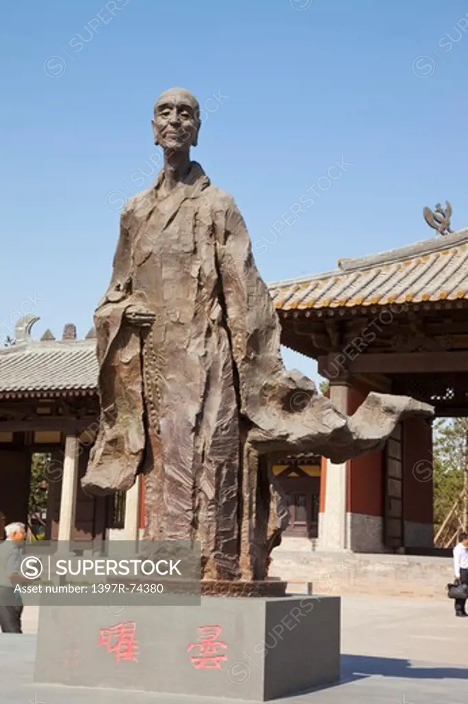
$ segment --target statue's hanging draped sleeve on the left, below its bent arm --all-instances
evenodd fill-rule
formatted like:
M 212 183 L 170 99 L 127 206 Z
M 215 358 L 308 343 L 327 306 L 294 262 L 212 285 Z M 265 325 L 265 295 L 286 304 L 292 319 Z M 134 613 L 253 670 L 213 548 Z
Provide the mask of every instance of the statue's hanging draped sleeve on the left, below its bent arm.
M 96 494 L 129 489 L 145 446 L 141 332 L 125 320 L 125 310 L 135 301 L 135 230 L 130 201 L 120 217 L 110 284 L 94 314 L 101 419 L 82 485 Z

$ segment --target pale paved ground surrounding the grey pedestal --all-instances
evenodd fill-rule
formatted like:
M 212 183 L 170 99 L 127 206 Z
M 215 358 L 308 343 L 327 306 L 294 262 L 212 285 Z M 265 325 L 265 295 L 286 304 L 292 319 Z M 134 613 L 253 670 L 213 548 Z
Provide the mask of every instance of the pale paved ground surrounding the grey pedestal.
M 341 683 L 285 704 L 466 704 L 468 619 L 447 600 L 343 598 Z M 34 611 L 25 627 L 34 630 Z M 26 628 L 25 628 L 26 630 Z M 182 696 L 34 686 L 35 637 L 0 635 L 1 704 L 214 704 Z M 226 704 L 234 700 L 224 700 Z

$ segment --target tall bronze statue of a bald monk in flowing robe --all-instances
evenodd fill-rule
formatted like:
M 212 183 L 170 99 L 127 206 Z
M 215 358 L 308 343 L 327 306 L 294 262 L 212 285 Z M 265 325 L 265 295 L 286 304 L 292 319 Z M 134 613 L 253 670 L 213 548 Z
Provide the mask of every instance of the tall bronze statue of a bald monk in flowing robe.
M 348 418 L 286 372 L 241 213 L 190 161 L 199 113 L 184 89 L 156 102 L 165 163 L 122 212 L 96 310 L 101 427 L 83 484 L 126 490 L 144 473 L 146 539 L 200 540 L 204 579 L 260 580 L 287 523 L 266 455 L 343 461 L 431 407 L 370 394 Z M 298 392 L 308 403 L 297 411 Z

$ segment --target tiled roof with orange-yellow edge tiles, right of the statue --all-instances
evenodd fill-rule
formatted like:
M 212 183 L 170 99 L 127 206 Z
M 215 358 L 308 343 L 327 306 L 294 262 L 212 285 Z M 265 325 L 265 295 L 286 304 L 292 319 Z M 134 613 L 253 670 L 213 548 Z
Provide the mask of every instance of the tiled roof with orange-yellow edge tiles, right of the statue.
M 277 310 L 468 299 L 468 229 L 270 284 Z

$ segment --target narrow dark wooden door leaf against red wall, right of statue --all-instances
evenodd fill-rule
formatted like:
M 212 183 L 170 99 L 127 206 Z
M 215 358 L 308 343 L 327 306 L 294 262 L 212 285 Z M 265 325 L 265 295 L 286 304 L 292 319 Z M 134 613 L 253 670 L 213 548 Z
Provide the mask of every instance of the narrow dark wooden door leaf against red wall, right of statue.
M 403 539 L 403 432 L 401 424 L 385 446 L 384 545 L 402 548 Z

